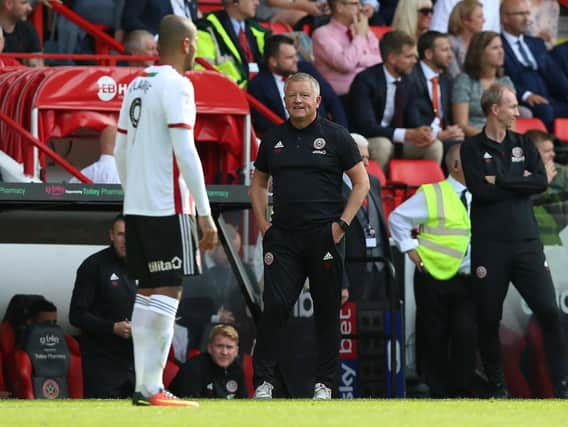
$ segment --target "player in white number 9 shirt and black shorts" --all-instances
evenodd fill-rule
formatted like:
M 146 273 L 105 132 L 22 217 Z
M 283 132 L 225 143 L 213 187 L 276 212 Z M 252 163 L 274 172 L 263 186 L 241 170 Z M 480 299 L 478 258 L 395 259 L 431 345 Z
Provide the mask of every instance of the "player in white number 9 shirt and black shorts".
M 133 403 L 197 406 L 177 399 L 162 381 L 183 278 L 201 273 L 199 249 L 217 243 L 193 135 L 194 89 L 184 77 L 195 59 L 196 28 L 186 18 L 168 15 L 160 23 L 158 44 L 159 65 L 146 68 L 126 90 L 114 151 L 124 189 L 127 266 L 139 280 L 132 311 Z

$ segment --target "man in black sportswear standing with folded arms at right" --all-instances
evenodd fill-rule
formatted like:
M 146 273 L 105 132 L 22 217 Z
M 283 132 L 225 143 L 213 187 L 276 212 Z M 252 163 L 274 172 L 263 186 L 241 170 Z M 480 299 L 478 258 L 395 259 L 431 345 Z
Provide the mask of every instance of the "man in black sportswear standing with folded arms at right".
M 524 136 L 510 131 L 518 103 L 508 87 L 495 84 L 481 104 L 483 131 L 462 146 L 471 207 L 471 258 L 477 293 L 479 346 L 491 394 L 507 397 L 499 323 L 509 281 L 538 319 L 557 397 L 568 397 L 566 348 L 552 277 L 539 238 L 531 196 L 547 187 L 540 155 Z

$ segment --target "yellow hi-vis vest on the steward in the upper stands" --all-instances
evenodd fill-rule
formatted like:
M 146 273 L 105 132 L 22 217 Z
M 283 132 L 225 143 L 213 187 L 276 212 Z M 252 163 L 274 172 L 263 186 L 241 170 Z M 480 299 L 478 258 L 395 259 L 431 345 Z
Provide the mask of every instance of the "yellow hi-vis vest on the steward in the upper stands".
M 205 21 L 205 25 L 201 25 Z M 223 27 L 219 18 L 210 13 L 198 26 L 197 56 L 207 59 L 222 74 L 229 77 L 240 87 L 248 82 L 248 65 L 243 64 L 239 49 Z M 199 21 L 198 21 L 199 22 Z M 264 37 L 267 30 L 255 26 L 249 21 L 248 28 L 256 40 L 258 50 L 264 53 Z M 199 69 L 200 67 L 196 67 Z

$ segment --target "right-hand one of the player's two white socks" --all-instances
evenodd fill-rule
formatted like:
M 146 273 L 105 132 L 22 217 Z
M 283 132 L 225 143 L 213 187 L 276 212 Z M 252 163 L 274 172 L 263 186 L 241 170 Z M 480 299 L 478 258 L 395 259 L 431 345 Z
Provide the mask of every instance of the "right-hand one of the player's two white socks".
M 151 295 L 146 312 L 146 324 L 151 348 L 144 355 L 144 382 L 142 393 L 154 395 L 164 388 L 162 376 L 172 339 L 178 300 L 165 295 Z

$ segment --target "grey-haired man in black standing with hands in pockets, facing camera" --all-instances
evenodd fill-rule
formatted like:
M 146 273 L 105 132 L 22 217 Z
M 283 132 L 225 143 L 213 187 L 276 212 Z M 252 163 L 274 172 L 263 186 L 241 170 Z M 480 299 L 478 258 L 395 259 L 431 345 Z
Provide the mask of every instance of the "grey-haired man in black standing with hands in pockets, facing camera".
M 250 190 L 264 235 L 264 313 L 254 353 L 255 397 L 272 397 L 282 331 L 308 277 L 318 349 L 314 399 L 331 399 L 339 353 L 343 236 L 369 191 L 369 178 L 349 132 L 317 117 L 319 85 L 313 77 L 291 76 L 284 101 L 290 119 L 263 138 Z M 346 205 L 343 172 L 353 183 Z M 272 223 L 266 220 L 271 176 Z

